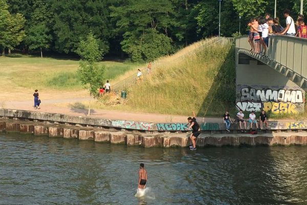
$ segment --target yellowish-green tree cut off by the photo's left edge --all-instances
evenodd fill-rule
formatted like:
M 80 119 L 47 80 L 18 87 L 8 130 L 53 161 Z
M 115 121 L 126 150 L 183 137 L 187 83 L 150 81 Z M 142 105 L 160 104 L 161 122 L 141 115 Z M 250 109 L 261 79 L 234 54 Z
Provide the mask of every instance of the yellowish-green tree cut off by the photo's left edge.
M 5 0 L 0 0 L 0 47 L 13 49 L 25 37 L 25 18 L 22 14 L 10 14 Z

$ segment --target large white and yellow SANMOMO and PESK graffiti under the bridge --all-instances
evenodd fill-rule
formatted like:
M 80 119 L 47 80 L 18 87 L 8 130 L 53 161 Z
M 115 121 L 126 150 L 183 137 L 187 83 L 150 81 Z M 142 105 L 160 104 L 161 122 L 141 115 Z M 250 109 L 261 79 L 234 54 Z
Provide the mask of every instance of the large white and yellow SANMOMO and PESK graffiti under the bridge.
M 237 95 L 236 107 L 243 111 L 295 114 L 303 111 L 304 93 L 301 90 L 242 88 Z

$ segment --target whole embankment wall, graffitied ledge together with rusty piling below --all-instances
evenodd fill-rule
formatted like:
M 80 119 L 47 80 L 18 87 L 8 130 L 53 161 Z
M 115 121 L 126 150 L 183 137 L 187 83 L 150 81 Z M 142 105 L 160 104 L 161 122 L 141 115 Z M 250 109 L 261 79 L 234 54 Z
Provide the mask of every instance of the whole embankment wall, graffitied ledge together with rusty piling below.
M 3 133 L 92 140 L 144 148 L 189 145 L 190 132 L 185 131 L 188 127 L 185 123 L 154 124 L 5 109 L 0 109 L 0 117 L 0 132 Z M 307 145 L 305 125 L 307 122 L 304 121 L 272 121 L 268 132 L 250 135 L 240 133 L 237 125 L 233 125 L 232 133 L 229 134 L 225 132 L 223 124 L 205 122 L 201 124 L 202 134 L 197 139 L 197 145 Z

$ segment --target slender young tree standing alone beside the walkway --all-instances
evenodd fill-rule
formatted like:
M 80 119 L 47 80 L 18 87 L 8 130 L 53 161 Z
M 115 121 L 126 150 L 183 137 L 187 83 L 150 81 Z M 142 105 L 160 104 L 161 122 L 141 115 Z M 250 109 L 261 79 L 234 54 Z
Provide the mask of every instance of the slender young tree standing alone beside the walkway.
M 102 58 L 102 51 L 96 37 L 90 32 L 85 40 L 81 40 L 76 52 L 81 56 L 77 71 L 81 84 L 89 85 L 90 95 L 96 97 L 97 89 L 103 81 L 104 67 L 98 67 L 97 62 Z M 91 101 L 89 113 L 91 112 Z

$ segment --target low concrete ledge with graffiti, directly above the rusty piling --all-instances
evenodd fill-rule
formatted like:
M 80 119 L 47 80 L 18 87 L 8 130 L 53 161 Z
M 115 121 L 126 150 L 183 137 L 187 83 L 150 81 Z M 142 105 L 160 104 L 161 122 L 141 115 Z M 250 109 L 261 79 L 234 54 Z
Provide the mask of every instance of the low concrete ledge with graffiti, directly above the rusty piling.
M 188 124 L 180 122 L 169 122 L 169 123 L 151 123 L 151 122 L 139 122 L 130 120 L 112 120 L 112 119 L 100 119 L 93 117 L 81 117 L 81 116 L 71 116 L 56 113 L 39 113 L 31 112 L 25 110 L 10 110 L 10 109 L 0 109 L 0 117 L 9 119 L 20 119 L 27 121 L 40 121 L 49 124 L 57 125 L 79 125 L 80 127 L 100 127 L 108 129 L 118 129 L 118 130 L 137 130 L 151 133 L 153 132 L 187 132 Z M 2 127 L 3 125 L 0 125 Z M 19 125 L 10 125 L 17 126 Z M 225 125 L 221 123 L 204 122 L 200 124 L 201 130 L 204 132 L 212 132 L 225 130 Z M 13 128 L 7 128 L 10 130 Z M 230 127 L 231 130 L 239 130 L 238 123 L 234 123 Z M 247 126 L 249 129 L 249 123 Z M 285 121 L 269 121 L 269 130 L 307 130 L 307 121 L 295 121 L 289 120 Z M 68 133 L 65 134 L 68 136 Z M 94 138 L 94 137 L 93 137 Z

